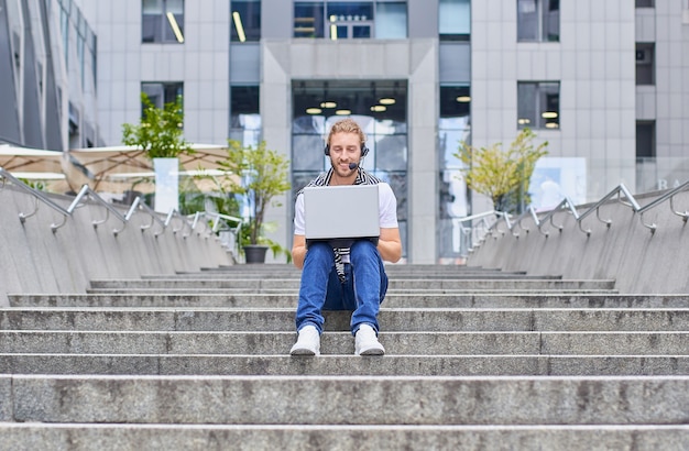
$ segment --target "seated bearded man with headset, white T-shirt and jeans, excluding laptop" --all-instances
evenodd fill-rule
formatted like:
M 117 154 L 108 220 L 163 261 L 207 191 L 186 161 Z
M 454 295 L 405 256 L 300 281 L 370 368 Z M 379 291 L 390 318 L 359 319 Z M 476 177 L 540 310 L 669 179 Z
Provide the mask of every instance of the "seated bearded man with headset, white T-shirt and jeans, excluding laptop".
M 397 262 L 402 242 L 397 227 L 397 200 L 390 185 L 361 168 L 368 148 L 365 135 L 352 119 L 332 125 L 326 155 L 332 166 L 309 186 L 379 185 L 381 234 L 378 244 L 358 240 L 349 249 L 333 249 L 327 242 L 309 243 L 304 237 L 304 195 L 297 195 L 294 217 L 294 264 L 302 268 L 299 304 L 296 311 L 297 342 L 292 355 L 320 354 L 321 310 L 352 310 L 350 330 L 356 337 L 357 355 L 382 355 L 385 349 L 378 340 L 378 312 L 387 290 L 383 260 Z M 342 206 L 342 215 L 351 215 Z

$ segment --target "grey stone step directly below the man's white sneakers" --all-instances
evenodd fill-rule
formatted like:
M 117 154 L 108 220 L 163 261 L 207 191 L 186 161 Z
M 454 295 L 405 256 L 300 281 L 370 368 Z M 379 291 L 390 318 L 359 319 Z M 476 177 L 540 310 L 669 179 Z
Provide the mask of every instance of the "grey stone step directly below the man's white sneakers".
M 687 376 L 689 355 L 0 354 L 2 374 Z M 2 447 L 0 446 L 0 449 Z

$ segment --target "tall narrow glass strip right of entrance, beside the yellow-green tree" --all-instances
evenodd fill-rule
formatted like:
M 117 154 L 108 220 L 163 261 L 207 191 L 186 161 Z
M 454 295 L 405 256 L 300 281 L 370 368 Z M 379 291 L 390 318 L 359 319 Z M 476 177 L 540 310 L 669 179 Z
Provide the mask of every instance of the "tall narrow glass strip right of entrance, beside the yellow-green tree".
M 467 255 L 469 242 L 457 221 L 471 213 L 467 184 L 460 178 L 462 162 L 453 154 L 461 142 L 471 142 L 471 90 L 468 86 L 440 87 L 438 121 L 438 257 L 442 263 L 458 263 Z M 469 226 L 469 224 L 467 224 Z

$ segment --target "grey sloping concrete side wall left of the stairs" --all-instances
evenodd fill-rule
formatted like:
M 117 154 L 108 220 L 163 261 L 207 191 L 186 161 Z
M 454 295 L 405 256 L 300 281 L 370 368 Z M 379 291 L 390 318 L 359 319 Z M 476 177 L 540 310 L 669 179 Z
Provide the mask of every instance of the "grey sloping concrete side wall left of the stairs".
M 65 209 L 74 200 L 70 196 L 47 196 Z M 122 229 L 117 217 L 108 217 L 103 207 L 88 202 L 53 233 L 51 224 L 62 223 L 63 216 L 45 204 L 39 202 L 35 215 L 23 224 L 19 220 L 20 212 L 30 213 L 34 207 L 31 195 L 14 186 L 3 187 L 0 243 L 12 258 L 0 266 L 0 306 L 9 304 L 8 294 L 85 293 L 91 278 L 174 275 L 230 262 L 220 242 L 206 233 L 185 238 L 182 232 L 173 233 L 172 228 L 142 233 L 141 226 L 151 222 L 145 213 L 133 215 Z M 127 213 L 125 208 L 113 207 Z M 106 218 L 94 227 L 94 220 Z M 116 229 L 122 229 L 117 237 Z

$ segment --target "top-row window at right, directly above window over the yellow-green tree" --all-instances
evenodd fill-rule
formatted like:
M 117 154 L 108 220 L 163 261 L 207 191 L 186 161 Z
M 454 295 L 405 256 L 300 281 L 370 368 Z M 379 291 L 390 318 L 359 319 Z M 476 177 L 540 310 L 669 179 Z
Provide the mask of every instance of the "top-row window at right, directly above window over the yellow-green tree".
M 559 42 L 559 0 L 517 0 L 518 42 Z

